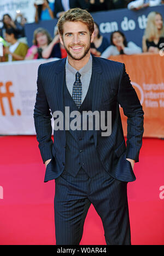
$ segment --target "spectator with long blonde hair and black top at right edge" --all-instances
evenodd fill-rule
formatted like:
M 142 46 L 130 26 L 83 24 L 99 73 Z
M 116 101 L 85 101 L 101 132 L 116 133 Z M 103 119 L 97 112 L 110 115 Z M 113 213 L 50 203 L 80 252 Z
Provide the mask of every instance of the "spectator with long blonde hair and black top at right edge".
M 160 47 L 161 43 L 164 43 L 162 15 L 157 12 L 150 12 L 142 41 L 143 52 L 157 53 L 163 47 Z

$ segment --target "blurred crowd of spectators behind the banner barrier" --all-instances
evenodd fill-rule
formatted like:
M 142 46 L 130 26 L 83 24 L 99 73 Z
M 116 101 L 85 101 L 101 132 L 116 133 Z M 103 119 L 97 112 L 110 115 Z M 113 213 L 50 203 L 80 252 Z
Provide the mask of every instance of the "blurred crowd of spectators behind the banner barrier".
M 34 4 L 36 8 L 35 22 L 40 20 L 49 20 L 60 18 L 69 8 L 80 7 L 97 12 L 99 10 L 109 10 L 127 7 L 128 9 L 140 9 L 148 5 L 161 4 L 164 1 L 159 0 L 55 0 L 49 3 L 48 0 L 38 0 Z M 13 21 L 9 14 L 3 15 L 3 26 L 0 29 L 0 39 L 5 40 L 3 45 L 3 56 L 1 62 L 15 60 L 28 60 L 40 58 L 65 58 L 67 52 L 60 43 L 57 27 L 54 29 L 54 38 L 51 38 L 49 31 L 38 27 L 33 32 L 33 45 L 29 48 L 24 26 L 26 18 L 17 13 Z M 127 42 L 125 35 L 121 31 L 114 31 L 108 38 L 102 36 L 99 32 L 99 26 L 95 22 L 94 40 L 91 43 L 91 54 L 96 57 L 110 58 L 111 55 L 119 54 L 138 54 L 142 52 L 160 51 L 160 44 L 164 43 L 164 26 L 162 15 L 157 12 L 150 12 L 147 20 L 147 27 L 144 31 L 142 48 L 134 42 Z

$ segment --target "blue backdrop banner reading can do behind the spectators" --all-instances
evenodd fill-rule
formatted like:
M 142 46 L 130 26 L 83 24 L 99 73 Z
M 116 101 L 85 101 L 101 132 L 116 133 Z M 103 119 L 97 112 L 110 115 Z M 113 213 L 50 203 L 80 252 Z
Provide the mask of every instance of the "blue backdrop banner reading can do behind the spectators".
M 99 25 L 101 35 L 106 36 L 110 41 L 110 34 L 116 30 L 122 31 L 127 41 L 133 41 L 142 47 L 142 37 L 147 25 L 147 16 L 150 12 L 159 12 L 164 19 L 164 4 L 156 7 L 144 8 L 138 11 L 124 9 L 109 10 L 106 12 L 92 13 L 93 19 Z M 44 27 L 51 36 L 54 35 L 54 28 L 57 20 L 40 21 L 38 24 L 27 24 L 25 27 L 28 44 L 32 45 L 33 31 L 37 27 Z

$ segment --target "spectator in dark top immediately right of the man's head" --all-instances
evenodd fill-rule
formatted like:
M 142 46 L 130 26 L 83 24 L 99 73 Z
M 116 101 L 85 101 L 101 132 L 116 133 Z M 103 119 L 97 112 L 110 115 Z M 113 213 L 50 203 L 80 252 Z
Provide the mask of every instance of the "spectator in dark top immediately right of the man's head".
M 109 42 L 106 37 L 99 34 L 99 27 L 97 23 L 94 23 L 94 39 L 91 43 L 91 53 L 99 57 L 109 46 Z

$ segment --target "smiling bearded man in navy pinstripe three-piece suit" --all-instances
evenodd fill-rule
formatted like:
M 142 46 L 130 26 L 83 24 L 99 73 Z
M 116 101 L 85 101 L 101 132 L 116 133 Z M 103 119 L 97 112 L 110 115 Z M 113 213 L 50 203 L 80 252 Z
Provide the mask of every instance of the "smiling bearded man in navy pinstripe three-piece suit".
M 136 179 L 133 166 L 142 146 L 142 106 L 124 64 L 91 56 L 94 24 L 86 10 L 68 10 L 57 25 L 68 56 L 39 66 L 34 107 L 46 166 L 44 182 L 55 179 L 56 244 L 80 243 L 91 203 L 102 219 L 106 243 L 131 244 L 127 182 Z M 127 144 L 119 104 L 127 116 Z M 50 110 L 64 114 L 66 107 L 72 113 L 112 111 L 112 133 L 54 129 L 53 142 Z

